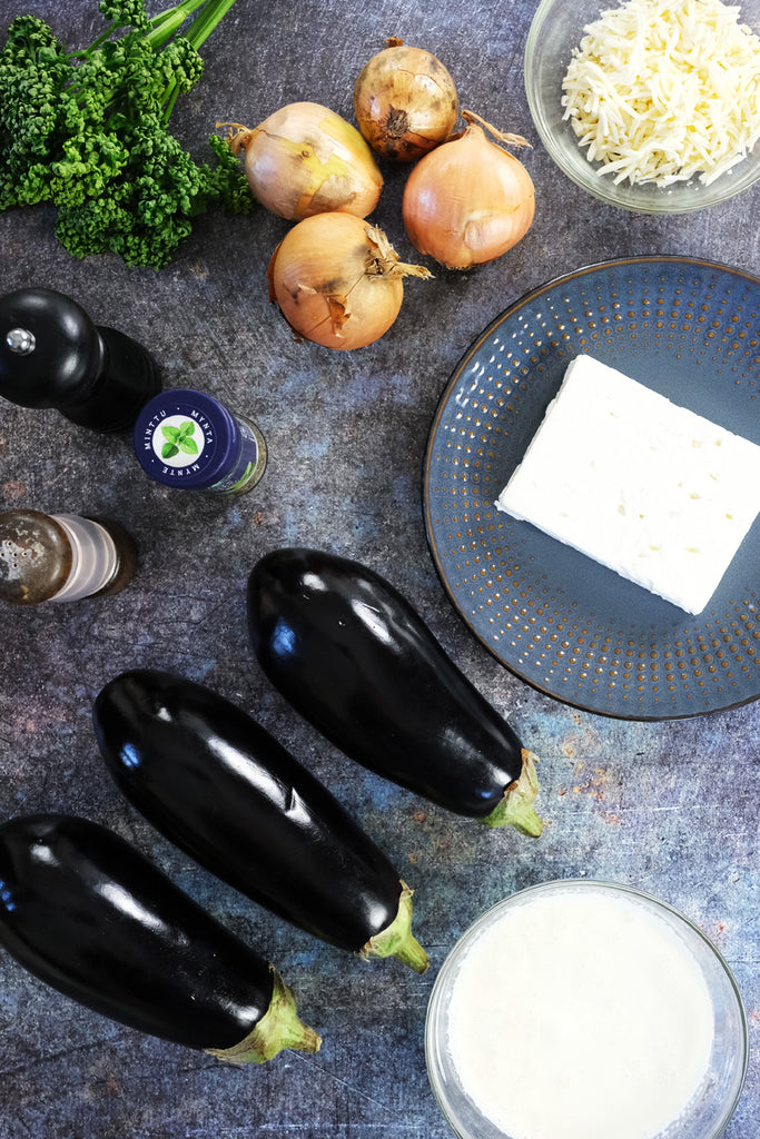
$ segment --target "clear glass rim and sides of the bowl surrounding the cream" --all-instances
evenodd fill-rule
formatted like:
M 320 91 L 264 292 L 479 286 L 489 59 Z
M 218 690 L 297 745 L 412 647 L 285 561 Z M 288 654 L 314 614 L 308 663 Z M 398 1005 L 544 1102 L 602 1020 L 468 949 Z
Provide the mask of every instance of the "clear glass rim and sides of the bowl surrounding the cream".
M 425 1026 L 427 1073 L 443 1116 L 459 1139 L 515 1139 L 479 1108 L 463 1084 L 449 1047 L 451 1001 L 463 962 L 477 939 L 492 931 L 507 911 L 557 893 L 571 898 L 581 894 L 588 899 L 589 892 L 635 903 L 645 911 L 641 916 L 659 919 L 656 928 L 662 928 L 664 923 L 663 933 L 669 939 L 675 935 L 680 947 L 679 956 L 680 950 L 686 950 L 692 959 L 689 967 L 696 966 L 697 977 L 701 974 L 712 1008 L 712 1048 L 704 1076 L 681 1114 L 651 1139 L 718 1139 L 726 1128 L 742 1092 L 749 1060 L 746 1016 L 728 966 L 697 926 L 665 902 L 631 886 L 575 878 L 531 886 L 492 907 L 460 937 L 435 980 Z M 582 983 L 581 978 L 579 982 Z M 484 1035 L 493 1033 L 495 1026 L 483 1023 L 482 1032 Z M 582 1047 L 581 1039 L 578 1046 Z M 526 1062 L 530 1059 L 540 1066 L 539 1051 L 540 1046 L 530 1050 Z M 594 1073 L 597 1074 L 602 1079 L 600 1073 Z M 608 1133 L 614 1132 L 613 1121 Z

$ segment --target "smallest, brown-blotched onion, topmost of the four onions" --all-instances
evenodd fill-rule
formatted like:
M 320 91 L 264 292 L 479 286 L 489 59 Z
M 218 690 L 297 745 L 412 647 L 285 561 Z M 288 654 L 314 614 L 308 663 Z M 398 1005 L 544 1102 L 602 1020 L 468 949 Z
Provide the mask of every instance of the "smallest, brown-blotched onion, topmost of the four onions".
M 353 112 L 374 150 L 399 162 L 416 162 L 453 130 L 457 89 L 430 51 L 406 47 L 403 40 L 387 43 L 359 72 Z

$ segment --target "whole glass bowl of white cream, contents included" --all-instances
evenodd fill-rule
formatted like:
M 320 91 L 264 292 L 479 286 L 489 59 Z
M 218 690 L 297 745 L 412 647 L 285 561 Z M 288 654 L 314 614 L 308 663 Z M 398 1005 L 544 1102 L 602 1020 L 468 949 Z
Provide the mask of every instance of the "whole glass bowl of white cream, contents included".
M 461 936 L 433 985 L 431 1087 L 459 1139 L 717 1139 L 749 1043 L 730 970 L 630 886 L 531 886 Z

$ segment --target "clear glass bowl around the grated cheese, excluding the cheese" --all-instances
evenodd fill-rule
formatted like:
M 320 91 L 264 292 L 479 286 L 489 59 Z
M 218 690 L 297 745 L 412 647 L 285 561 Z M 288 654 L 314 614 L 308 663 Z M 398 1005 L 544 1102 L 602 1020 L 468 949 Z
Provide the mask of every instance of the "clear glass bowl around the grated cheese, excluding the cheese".
M 760 0 L 739 0 L 739 22 L 755 34 L 760 27 Z M 733 170 L 703 186 L 698 179 L 670 187 L 654 183 L 618 186 L 611 175 L 597 173 L 570 122 L 563 122 L 562 81 L 583 28 L 616 5 L 613 0 L 542 0 L 533 17 L 525 46 L 525 92 L 536 130 L 557 166 L 594 197 L 623 210 L 648 214 L 681 214 L 726 202 L 760 179 L 760 142 Z

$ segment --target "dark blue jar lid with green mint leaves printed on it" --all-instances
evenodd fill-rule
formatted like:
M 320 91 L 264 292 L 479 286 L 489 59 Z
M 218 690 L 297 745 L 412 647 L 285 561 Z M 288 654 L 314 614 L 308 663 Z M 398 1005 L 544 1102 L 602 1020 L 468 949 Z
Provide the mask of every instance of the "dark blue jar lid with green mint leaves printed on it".
M 240 431 L 212 395 L 175 387 L 155 395 L 134 424 L 134 453 L 157 483 L 206 490 L 235 465 Z

